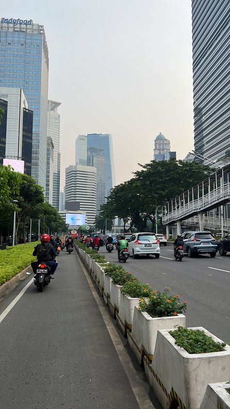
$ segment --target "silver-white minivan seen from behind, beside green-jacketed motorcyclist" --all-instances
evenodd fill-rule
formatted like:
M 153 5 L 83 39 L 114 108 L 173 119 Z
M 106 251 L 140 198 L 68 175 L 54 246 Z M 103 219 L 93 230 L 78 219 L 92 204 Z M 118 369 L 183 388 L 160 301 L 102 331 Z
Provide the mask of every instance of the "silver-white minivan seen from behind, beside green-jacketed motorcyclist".
M 129 239 L 128 253 L 136 258 L 137 256 L 154 255 L 160 257 L 160 240 L 154 233 L 134 233 Z

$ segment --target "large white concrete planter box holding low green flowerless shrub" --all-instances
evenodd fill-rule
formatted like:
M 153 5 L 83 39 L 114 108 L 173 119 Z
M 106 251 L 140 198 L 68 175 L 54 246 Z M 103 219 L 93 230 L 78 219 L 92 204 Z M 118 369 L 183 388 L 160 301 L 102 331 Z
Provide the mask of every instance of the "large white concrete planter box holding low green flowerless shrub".
M 222 342 L 202 327 L 192 329 L 204 330 L 214 341 Z M 144 359 L 148 382 L 164 409 L 170 408 L 170 393 L 179 397 L 185 408 L 199 409 L 209 383 L 230 379 L 230 346 L 220 352 L 188 354 L 175 345 L 169 331 L 158 331 L 151 365 Z

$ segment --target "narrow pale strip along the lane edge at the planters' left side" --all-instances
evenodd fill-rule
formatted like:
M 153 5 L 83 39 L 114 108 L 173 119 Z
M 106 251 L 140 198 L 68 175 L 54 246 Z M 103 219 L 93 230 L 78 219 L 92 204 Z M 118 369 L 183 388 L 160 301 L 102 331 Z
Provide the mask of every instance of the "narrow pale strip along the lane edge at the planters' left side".
M 152 402 L 150 401 L 148 394 L 145 390 L 145 387 L 142 385 L 142 380 L 140 379 L 137 371 L 135 370 L 133 363 L 131 361 L 131 357 L 129 353 L 126 351 L 125 346 L 120 340 L 120 337 L 115 329 L 115 326 L 113 324 L 112 318 L 110 318 L 110 315 L 107 311 L 107 308 L 105 307 L 103 303 L 103 299 L 99 297 L 99 294 L 97 290 L 94 287 L 94 284 L 92 283 L 91 278 L 89 277 L 89 274 L 84 267 L 82 260 L 80 256 L 76 253 L 76 256 L 78 258 L 78 261 L 82 267 L 82 271 L 85 275 L 85 278 L 88 282 L 89 288 L 92 291 L 92 294 L 95 298 L 95 301 L 97 303 L 97 306 L 99 308 L 99 311 L 101 313 L 101 316 L 104 320 L 104 323 L 106 325 L 106 328 L 109 332 L 110 338 L 113 341 L 116 353 L 120 359 L 121 365 L 125 371 L 125 374 L 130 382 L 131 389 L 134 393 L 134 396 L 137 400 L 137 403 L 140 407 L 140 409 L 156 409 Z

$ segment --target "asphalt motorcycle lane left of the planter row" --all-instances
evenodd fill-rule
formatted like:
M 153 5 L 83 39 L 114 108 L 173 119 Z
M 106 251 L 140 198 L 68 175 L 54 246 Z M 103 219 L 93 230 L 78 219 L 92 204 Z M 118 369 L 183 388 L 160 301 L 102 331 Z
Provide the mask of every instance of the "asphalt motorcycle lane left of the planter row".
M 139 405 L 75 254 L 58 257 L 55 279 L 33 274 L 0 302 L 0 408 L 108 409 Z

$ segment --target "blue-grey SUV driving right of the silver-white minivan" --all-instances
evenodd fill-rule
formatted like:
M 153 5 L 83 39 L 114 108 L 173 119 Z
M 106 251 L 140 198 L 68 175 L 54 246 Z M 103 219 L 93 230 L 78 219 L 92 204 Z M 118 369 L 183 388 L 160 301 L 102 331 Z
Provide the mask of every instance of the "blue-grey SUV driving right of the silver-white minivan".
M 209 254 L 211 257 L 215 257 L 218 251 L 216 239 L 210 231 L 184 232 L 181 237 L 184 241 L 183 251 L 188 257 L 198 254 Z

